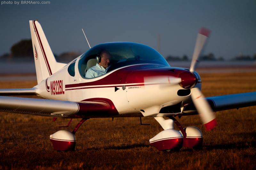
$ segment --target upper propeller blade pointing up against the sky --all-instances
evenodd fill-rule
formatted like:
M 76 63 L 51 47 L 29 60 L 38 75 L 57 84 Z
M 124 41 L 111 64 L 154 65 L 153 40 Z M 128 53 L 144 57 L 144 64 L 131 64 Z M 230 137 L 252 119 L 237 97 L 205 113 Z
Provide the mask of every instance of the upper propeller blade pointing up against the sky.
M 196 39 L 196 46 L 194 49 L 194 53 L 192 56 L 192 61 L 191 61 L 191 65 L 190 65 L 190 71 L 194 72 L 196 69 L 196 64 L 198 63 L 198 57 L 200 56 L 202 49 L 204 47 L 204 44 L 206 42 L 207 37 L 209 37 L 209 34 L 211 33 L 211 30 L 202 27 L 199 30 L 199 33 L 197 35 L 197 39 Z

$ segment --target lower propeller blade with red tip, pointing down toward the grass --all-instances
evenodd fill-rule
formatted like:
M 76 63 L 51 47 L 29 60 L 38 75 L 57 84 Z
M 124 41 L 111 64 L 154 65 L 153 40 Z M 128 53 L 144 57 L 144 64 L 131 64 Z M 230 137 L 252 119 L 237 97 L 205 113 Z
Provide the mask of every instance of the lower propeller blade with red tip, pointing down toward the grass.
M 201 117 L 206 131 L 213 129 L 217 124 L 216 116 L 213 113 L 212 108 L 204 98 L 204 95 L 198 88 L 192 88 L 191 98 L 194 102 L 197 112 Z

